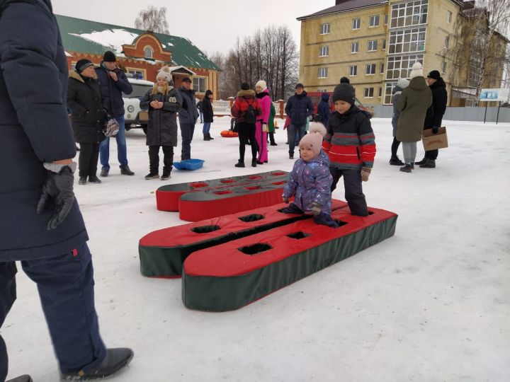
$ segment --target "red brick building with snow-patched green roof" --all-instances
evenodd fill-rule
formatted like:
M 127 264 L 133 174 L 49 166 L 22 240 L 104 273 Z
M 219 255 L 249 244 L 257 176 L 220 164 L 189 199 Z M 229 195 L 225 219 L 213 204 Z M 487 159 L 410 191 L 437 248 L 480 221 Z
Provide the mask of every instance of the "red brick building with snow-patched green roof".
M 181 86 L 184 76 L 189 76 L 198 97 L 210 89 L 217 98 L 220 69 L 187 38 L 81 18 L 56 17 L 69 69 L 74 69 L 83 58 L 99 64 L 104 52 L 111 50 L 120 68 L 134 78 L 154 82 L 157 71 L 162 66 L 170 66 L 176 88 Z

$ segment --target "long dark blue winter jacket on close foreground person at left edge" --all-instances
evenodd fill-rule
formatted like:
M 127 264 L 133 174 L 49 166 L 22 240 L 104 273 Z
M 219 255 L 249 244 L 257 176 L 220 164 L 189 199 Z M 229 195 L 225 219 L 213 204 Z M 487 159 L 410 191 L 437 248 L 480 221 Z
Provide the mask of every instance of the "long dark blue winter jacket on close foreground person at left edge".
M 0 0 L 0 9 L 5 1 Z M 76 200 L 54 231 L 35 212 L 44 162 L 76 155 L 67 115 L 67 59 L 50 0 L 0 16 L 0 261 L 64 255 L 88 240 Z

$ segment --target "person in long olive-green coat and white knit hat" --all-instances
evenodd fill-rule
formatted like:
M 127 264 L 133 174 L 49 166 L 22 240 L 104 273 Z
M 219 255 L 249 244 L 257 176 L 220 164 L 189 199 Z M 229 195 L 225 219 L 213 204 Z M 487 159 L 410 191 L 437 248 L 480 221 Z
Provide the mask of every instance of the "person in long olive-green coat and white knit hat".
M 413 64 L 409 77 L 411 82 L 402 91 L 396 105 L 401 112 L 397 122 L 397 139 L 402 142 L 404 151 L 405 166 L 400 168 L 404 173 L 411 173 L 414 168 L 416 142 L 421 140 L 426 110 L 432 104 L 432 94 L 419 62 Z

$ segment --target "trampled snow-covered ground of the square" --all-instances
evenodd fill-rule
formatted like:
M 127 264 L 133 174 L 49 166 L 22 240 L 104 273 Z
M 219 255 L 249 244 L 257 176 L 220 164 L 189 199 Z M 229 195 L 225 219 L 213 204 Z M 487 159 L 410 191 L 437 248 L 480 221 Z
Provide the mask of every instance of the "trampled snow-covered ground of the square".
M 198 125 L 192 154 L 205 166 L 174 170 L 166 183 L 292 168 L 282 129 L 268 164 L 234 168 L 238 141 L 219 134 L 227 125 L 217 118 L 209 142 Z M 180 279 L 141 276 L 137 241 L 184 222 L 157 211 L 154 190 L 165 182 L 143 179 L 145 136 L 128 132 L 136 175 L 120 175 L 113 162 L 101 185 L 75 187 L 103 340 L 135 351 L 115 381 L 510 381 L 510 124 L 445 125 L 450 147 L 437 168 L 408 174 L 388 164 L 390 120 L 373 120 L 378 155 L 364 191 L 370 206 L 399 214 L 394 237 L 228 313 L 190 311 Z M 1 332 L 10 378 L 57 381 L 35 284 L 23 272 Z

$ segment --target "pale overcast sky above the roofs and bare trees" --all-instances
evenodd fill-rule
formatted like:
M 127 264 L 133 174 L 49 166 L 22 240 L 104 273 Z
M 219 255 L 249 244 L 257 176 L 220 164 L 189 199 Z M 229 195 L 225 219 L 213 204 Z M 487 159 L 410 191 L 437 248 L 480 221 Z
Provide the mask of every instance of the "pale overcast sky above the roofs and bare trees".
M 77 4 L 78 3 L 78 4 Z M 166 6 L 171 35 L 188 37 L 193 43 L 212 52 L 228 52 L 236 37 L 251 35 L 268 25 L 288 25 L 295 42 L 300 42 L 299 16 L 334 6 L 334 0 L 88 0 L 84 2 L 52 0 L 58 15 L 84 18 L 114 25 L 135 27 L 141 9 Z

